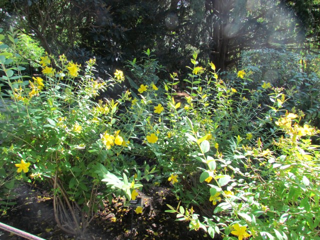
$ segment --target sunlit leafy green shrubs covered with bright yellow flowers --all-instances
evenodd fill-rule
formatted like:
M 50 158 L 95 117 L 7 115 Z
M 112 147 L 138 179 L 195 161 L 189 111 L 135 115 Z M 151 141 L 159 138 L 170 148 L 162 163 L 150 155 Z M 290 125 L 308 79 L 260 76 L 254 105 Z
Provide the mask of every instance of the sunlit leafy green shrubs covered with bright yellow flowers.
M 170 184 L 168 214 L 212 238 L 320 239 L 318 130 L 284 88 L 256 83 L 249 68 L 221 80 L 194 53 L 177 101 L 178 76 L 160 80 L 149 50 L 128 62 L 131 77 L 116 70 L 98 81 L 94 59 L 63 55 L 24 76 L 15 34 L 0 35 L 11 41 L 0 44 L 2 214 L 16 182 L 45 181 L 57 224 L 81 235 L 102 199 L 135 199 L 148 182 Z M 94 100 L 125 78 L 117 98 Z

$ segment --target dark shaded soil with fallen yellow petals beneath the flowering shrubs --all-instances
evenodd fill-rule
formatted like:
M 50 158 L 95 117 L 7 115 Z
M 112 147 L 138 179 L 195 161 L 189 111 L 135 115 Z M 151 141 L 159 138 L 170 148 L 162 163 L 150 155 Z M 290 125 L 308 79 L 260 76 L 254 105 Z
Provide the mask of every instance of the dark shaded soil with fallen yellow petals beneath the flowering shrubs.
M 14 192 L 17 204 L 0 216 L 1 222 L 44 239 L 79 239 L 57 227 L 52 197 L 45 190 L 22 183 Z M 142 214 L 133 213 L 133 236 L 130 234 L 131 210 L 122 206 L 121 198 L 113 198 L 111 204 L 104 204 L 104 209 L 94 216 L 86 237 L 81 239 L 211 239 L 201 229 L 189 231 L 187 222 L 175 221 L 175 214 L 164 212 L 168 209 L 166 204 L 177 204 L 168 187 L 151 186 L 139 195 L 144 207 Z M 0 229 L 0 239 L 24 238 Z

